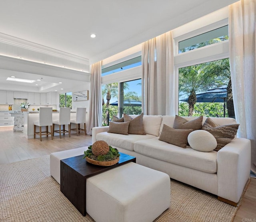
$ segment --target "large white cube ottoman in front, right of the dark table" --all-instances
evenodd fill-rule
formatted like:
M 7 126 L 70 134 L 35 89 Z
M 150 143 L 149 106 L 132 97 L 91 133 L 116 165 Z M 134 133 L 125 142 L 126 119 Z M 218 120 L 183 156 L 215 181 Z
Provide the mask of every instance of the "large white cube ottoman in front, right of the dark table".
M 152 222 L 170 206 L 170 177 L 127 163 L 86 181 L 86 212 L 96 222 Z

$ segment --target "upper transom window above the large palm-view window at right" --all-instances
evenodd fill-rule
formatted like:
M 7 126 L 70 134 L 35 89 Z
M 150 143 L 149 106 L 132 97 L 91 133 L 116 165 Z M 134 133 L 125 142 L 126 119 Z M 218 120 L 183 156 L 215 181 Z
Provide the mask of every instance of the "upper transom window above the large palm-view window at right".
M 228 40 L 228 25 L 179 42 L 179 54 Z

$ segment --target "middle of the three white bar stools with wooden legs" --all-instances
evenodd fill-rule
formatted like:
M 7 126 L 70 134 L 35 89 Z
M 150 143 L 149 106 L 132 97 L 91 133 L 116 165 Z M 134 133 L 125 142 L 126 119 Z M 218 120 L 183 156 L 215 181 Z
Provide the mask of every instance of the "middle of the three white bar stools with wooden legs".
M 59 130 L 54 130 L 54 127 L 56 125 L 59 125 Z M 63 125 L 63 129 L 61 129 L 61 126 Z M 65 130 L 65 125 L 68 125 L 68 131 Z M 61 139 L 61 133 L 65 135 L 65 132 L 68 132 L 68 135 L 70 137 L 70 108 L 69 107 L 60 107 L 60 113 L 59 113 L 59 119 L 52 121 L 52 132 L 54 135 L 54 132 L 60 134 Z

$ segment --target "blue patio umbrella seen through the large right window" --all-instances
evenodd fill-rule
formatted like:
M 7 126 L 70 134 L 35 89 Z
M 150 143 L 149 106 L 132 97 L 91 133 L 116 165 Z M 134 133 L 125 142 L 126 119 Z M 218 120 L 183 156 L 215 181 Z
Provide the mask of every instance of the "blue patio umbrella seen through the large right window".
M 221 86 L 214 89 L 209 89 L 204 92 L 196 93 L 197 103 L 224 103 L 224 117 L 226 116 L 226 97 L 227 87 Z M 180 101 L 188 102 L 188 97 L 180 99 Z

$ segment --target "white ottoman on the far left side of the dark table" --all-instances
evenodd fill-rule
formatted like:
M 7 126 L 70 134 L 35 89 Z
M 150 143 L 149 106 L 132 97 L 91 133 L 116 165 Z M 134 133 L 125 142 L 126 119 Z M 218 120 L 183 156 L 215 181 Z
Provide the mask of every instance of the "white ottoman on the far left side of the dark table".
M 50 174 L 60 184 L 60 160 L 83 155 L 88 147 L 64 150 L 50 154 Z

